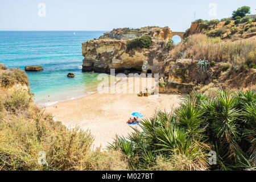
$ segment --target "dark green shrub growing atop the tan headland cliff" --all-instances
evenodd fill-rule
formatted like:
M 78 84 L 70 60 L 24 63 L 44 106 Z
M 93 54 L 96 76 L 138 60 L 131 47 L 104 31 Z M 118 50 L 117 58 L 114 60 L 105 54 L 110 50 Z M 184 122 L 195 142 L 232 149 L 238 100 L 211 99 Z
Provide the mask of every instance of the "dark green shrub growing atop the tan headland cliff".
M 127 41 L 127 49 L 133 49 L 133 48 L 147 48 L 150 47 L 152 44 L 151 37 L 148 35 L 143 35 L 141 38 L 135 38 L 133 40 Z

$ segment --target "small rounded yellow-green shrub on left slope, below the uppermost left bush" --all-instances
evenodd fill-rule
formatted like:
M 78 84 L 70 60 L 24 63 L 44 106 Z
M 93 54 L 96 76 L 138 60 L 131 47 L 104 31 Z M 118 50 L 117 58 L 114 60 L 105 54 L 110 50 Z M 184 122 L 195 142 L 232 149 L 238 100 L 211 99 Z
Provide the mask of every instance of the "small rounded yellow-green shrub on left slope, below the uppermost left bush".
M 27 91 L 20 91 L 14 89 L 5 100 L 5 109 L 17 113 L 19 111 L 27 110 L 32 102 L 32 97 Z

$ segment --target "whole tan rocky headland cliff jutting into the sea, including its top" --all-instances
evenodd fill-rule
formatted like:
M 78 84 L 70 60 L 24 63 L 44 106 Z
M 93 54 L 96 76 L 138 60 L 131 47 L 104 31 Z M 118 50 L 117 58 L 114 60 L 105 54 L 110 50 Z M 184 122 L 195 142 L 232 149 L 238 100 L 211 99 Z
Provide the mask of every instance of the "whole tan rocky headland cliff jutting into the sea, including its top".
M 152 46 L 127 50 L 127 41 L 142 35 L 152 37 Z M 115 72 L 122 73 L 158 73 L 159 63 L 164 60 L 165 55 L 160 49 L 171 38 L 172 31 L 168 27 L 114 29 L 99 39 L 82 43 L 82 70 L 108 73 L 114 68 Z

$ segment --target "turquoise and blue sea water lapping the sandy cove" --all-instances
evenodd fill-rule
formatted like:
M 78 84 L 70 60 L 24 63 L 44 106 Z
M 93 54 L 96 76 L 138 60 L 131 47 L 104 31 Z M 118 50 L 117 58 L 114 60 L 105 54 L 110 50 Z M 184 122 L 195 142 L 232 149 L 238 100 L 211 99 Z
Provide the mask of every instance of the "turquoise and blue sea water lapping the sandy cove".
M 36 104 L 52 105 L 96 92 L 97 73 L 82 72 L 82 42 L 104 31 L 0 31 L 0 63 L 8 68 L 42 65 L 27 72 Z M 75 78 L 68 78 L 69 72 Z

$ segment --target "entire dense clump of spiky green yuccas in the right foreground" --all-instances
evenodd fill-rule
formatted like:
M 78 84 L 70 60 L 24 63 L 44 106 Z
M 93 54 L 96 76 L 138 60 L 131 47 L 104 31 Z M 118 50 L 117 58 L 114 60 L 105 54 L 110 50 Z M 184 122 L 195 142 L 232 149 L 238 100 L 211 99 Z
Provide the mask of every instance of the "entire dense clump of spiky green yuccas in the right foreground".
M 158 111 L 154 117 L 142 119 L 143 133 L 134 130 L 110 148 L 121 149 L 133 169 L 206 170 L 209 150 L 217 152 L 217 164 L 211 169 L 253 168 L 255 97 L 253 91 L 219 90 L 215 98 L 192 92 L 174 113 Z

